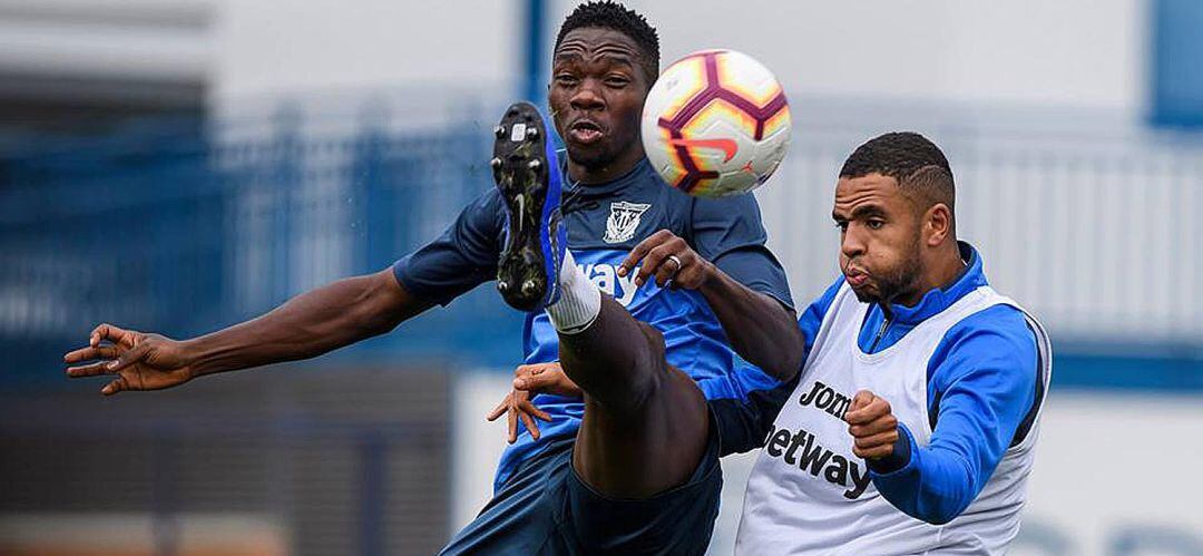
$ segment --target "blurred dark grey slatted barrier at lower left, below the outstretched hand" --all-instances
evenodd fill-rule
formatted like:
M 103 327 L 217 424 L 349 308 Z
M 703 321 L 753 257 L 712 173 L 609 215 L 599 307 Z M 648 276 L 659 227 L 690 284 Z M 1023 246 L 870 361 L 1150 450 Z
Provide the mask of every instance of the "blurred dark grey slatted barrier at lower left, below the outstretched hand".
M 433 554 L 451 533 L 451 377 L 294 365 L 0 395 L 0 554 Z

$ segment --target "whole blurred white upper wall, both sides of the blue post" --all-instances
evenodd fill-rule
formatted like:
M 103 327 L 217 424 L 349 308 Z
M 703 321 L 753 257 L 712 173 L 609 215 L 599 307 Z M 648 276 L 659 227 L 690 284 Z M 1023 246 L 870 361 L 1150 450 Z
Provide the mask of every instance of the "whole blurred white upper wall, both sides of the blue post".
M 550 35 L 576 2 L 551 2 Z M 225 0 L 214 94 L 500 83 L 523 0 Z M 1137 110 L 1144 0 L 630 0 L 665 63 L 705 47 L 760 58 L 790 94 Z M 550 43 L 549 41 L 549 48 Z

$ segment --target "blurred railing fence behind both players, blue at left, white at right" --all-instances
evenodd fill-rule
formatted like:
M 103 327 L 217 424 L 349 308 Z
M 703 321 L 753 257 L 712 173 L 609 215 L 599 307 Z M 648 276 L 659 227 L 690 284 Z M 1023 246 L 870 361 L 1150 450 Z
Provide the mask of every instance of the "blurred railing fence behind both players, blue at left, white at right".
M 235 138 L 143 132 L 5 161 L 0 337 L 18 348 L 5 374 L 38 381 L 101 320 L 189 336 L 385 267 L 491 187 L 492 112 L 478 108 L 429 128 L 360 118 L 337 132 L 282 111 Z M 958 177 L 960 236 L 1062 345 L 1198 356 L 1197 138 L 926 132 Z M 835 175 L 871 135 L 800 122 L 758 193 L 798 300 L 836 276 Z M 518 321 L 481 288 L 348 354 L 504 366 L 518 357 Z

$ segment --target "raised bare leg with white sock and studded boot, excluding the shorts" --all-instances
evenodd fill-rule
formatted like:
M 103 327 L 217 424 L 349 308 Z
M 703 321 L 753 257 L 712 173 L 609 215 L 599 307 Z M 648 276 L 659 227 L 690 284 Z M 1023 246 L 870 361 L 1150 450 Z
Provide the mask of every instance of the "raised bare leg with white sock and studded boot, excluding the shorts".
M 549 125 L 529 103 L 494 130 L 493 177 L 505 202 L 497 289 L 522 310 L 545 308 L 564 372 L 585 390 L 574 467 L 600 493 L 644 498 L 683 484 L 701 461 L 705 397 L 664 360 L 659 332 L 602 292 L 565 249 L 562 177 Z

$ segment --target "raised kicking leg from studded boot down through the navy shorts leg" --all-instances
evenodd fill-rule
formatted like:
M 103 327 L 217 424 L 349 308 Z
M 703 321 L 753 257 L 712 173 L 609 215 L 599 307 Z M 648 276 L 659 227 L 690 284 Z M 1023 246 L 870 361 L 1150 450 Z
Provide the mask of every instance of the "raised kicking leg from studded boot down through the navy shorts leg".
M 506 209 L 497 286 L 546 309 L 585 416 L 561 505 L 564 542 L 599 554 L 703 554 L 722 473 L 701 390 L 664 359 L 664 339 L 604 297 L 564 249 L 561 177 L 534 107 L 514 105 L 492 160 Z

